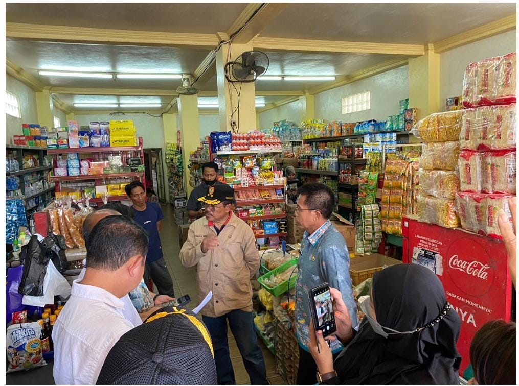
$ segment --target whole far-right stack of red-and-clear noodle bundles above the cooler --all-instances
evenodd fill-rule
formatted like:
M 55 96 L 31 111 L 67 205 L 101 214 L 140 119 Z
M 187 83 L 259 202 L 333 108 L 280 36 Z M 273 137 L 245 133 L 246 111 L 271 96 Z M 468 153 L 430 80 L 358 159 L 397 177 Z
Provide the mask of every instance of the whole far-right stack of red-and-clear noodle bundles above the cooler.
M 456 207 L 464 229 L 498 239 L 497 213 L 511 220 L 508 198 L 517 190 L 515 88 L 515 52 L 465 71 Z

